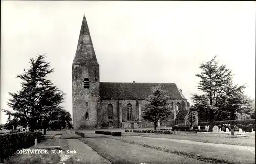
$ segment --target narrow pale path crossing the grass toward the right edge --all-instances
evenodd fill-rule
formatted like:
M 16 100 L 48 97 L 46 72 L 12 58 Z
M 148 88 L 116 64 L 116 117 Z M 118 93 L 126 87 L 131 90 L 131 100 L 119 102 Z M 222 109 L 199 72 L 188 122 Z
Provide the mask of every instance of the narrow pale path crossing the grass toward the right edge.
M 134 137 L 143 137 L 143 136 L 134 136 Z M 143 137 L 148 138 L 148 137 Z M 203 143 L 203 142 L 197 142 L 197 141 L 191 141 L 191 140 L 180 140 L 180 139 L 168 139 L 168 138 L 153 138 L 151 139 L 161 139 L 161 140 L 169 140 L 176 143 L 186 143 L 186 144 L 197 144 L 197 145 L 203 145 L 203 146 L 213 146 L 213 147 L 219 147 L 219 148 L 227 148 L 227 149 L 239 149 L 239 150 L 250 150 L 253 154 L 255 154 L 255 147 L 247 147 L 247 146 L 240 146 L 240 145 L 227 145 L 227 144 L 215 144 L 215 143 Z

